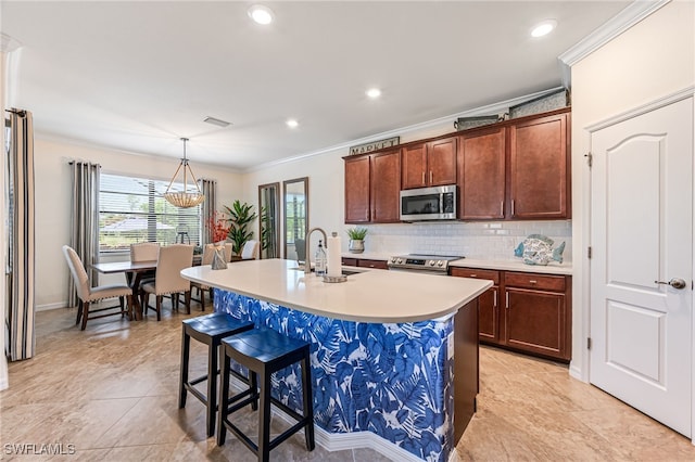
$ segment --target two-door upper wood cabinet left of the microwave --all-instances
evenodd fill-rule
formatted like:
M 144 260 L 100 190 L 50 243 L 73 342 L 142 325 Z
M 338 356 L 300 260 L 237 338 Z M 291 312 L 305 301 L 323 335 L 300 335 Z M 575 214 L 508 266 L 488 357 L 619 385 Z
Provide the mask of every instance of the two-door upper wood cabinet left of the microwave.
M 400 221 L 399 150 L 345 158 L 345 222 Z

